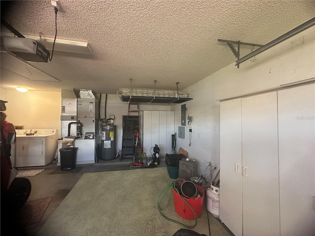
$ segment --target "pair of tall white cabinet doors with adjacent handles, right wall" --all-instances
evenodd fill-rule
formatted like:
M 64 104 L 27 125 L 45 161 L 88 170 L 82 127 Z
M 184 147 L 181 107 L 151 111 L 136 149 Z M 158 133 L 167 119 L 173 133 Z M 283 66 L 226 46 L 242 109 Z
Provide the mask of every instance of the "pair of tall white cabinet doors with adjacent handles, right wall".
M 235 235 L 279 235 L 277 92 L 222 102 L 220 120 L 222 222 Z

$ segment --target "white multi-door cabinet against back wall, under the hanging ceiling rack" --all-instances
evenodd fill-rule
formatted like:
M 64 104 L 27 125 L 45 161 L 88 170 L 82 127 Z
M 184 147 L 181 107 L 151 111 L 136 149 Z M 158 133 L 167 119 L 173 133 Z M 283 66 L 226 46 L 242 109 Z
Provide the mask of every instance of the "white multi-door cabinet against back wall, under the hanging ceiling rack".
M 173 111 L 144 111 L 143 112 L 143 151 L 151 155 L 153 148 L 158 145 L 160 155 L 172 151 L 172 134 L 174 134 Z M 151 149 L 151 152 L 150 152 Z

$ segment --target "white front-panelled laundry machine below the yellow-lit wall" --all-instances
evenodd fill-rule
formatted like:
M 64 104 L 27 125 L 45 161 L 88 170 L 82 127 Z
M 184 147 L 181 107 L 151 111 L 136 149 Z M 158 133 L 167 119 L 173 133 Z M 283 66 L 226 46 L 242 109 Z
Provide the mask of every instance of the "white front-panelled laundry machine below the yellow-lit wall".
M 27 135 L 29 133 L 33 135 Z M 57 150 L 57 139 L 57 129 L 16 130 L 15 166 L 45 166 L 51 163 Z

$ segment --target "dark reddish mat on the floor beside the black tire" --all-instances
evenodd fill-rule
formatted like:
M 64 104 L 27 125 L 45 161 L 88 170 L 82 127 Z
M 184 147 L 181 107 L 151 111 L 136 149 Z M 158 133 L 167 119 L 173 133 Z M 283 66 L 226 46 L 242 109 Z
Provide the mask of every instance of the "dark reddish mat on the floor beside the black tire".
M 52 197 L 27 201 L 19 210 L 19 218 L 23 226 L 40 222 Z

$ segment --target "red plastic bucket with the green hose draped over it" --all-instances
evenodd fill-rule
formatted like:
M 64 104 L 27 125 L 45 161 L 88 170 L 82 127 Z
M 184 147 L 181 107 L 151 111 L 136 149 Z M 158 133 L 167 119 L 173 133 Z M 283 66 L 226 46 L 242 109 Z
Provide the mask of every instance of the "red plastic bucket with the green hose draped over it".
M 196 217 L 200 217 L 202 207 L 203 207 L 203 199 L 205 196 L 205 190 L 199 186 L 196 185 L 196 187 L 202 192 L 202 196 L 196 197 L 196 198 L 185 198 L 185 201 L 188 202 L 190 207 L 193 209 L 193 211 L 196 214 Z M 187 205 L 187 203 L 184 202 L 181 195 L 179 195 L 174 188 L 172 188 L 173 191 L 173 199 L 174 199 L 174 206 L 177 214 L 179 214 L 181 217 L 189 220 L 195 219 L 195 216 L 190 209 L 190 207 Z

